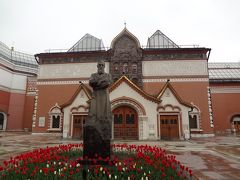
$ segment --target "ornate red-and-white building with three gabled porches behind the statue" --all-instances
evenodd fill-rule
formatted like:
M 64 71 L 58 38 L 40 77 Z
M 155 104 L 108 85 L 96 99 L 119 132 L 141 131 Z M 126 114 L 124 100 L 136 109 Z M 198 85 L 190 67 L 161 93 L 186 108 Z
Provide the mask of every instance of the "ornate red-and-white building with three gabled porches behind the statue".
M 209 48 L 178 46 L 161 31 L 144 48 L 126 28 L 110 48 L 86 34 L 65 52 L 35 55 L 37 80 L 35 74 L 26 76 L 25 90 L 35 99 L 31 96 L 23 108 L 32 120 L 26 118 L 23 124 L 31 122 L 33 133 L 82 138 L 92 98 L 88 80 L 97 62 L 104 60 L 113 78 L 109 90 L 114 139 L 188 139 L 239 131 L 240 66 L 209 64 L 209 55 Z

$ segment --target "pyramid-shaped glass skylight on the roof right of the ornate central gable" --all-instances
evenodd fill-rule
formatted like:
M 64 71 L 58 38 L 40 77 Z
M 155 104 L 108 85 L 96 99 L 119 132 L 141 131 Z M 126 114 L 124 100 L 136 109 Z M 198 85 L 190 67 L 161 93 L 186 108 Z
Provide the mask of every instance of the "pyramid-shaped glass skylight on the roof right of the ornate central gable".
M 179 48 L 160 30 L 157 30 L 147 41 L 147 48 Z

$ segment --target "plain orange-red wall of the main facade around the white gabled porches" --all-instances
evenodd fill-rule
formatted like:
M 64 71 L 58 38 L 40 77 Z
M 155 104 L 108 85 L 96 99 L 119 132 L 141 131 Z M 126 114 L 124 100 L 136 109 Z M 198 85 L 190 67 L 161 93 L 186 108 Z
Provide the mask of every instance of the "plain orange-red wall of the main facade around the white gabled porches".
M 165 83 L 145 83 L 144 90 L 150 94 L 157 95 Z M 171 85 L 177 91 L 182 100 L 193 102 L 201 110 L 201 126 L 203 133 L 212 133 L 210 127 L 207 87 L 208 82 L 172 82 Z M 77 90 L 78 85 L 39 85 L 38 107 L 36 127 L 33 132 L 46 132 L 48 129 L 48 112 L 57 102 L 59 105 L 66 103 Z M 45 117 L 45 128 L 38 127 L 38 118 Z

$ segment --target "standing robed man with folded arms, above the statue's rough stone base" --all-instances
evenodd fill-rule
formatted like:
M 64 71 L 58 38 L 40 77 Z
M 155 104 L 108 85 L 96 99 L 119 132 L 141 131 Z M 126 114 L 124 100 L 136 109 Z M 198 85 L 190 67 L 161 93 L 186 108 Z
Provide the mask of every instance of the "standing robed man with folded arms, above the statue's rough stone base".
M 110 74 L 104 72 L 104 61 L 99 61 L 97 68 L 97 73 L 93 73 L 89 80 L 93 93 L 85 126 L 93 126 L 101 137 L 106 140 L 111 139 L 112 112 L 108 86 L 111 84 L 112 79 Z

